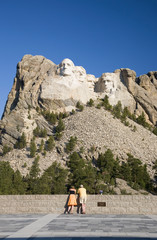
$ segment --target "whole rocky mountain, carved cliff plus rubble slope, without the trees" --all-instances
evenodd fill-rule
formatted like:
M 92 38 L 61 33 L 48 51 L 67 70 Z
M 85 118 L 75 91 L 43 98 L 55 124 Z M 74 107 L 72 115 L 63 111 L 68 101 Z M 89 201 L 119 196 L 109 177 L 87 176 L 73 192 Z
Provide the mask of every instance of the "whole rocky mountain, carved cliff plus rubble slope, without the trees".
M 96 78 L 87 74 L 83 67 L 75 66 L 70 59 L 56 65 L 43 56 L 25 55 L 17 65 L 13 87 L 0 121 L 0 151 L 4 145 L 13 147 L 23 132 L 29 144 L 37 126 L 46 129 L 48 136 L 54 134 L 53 126 L 39 114 L 39 109 L 71 112 L 76 109 L 78 101 L 86 105 L 90 99 L 97 102 L 105 95 L 111 105 L 121 101 L 122 106 L 128 107 L 131 113 L 139 116 L 143 112 L 147 122 L 156 125 L 157 71 L 136 77 L 133 70 L 121 68 Z M 95 154 L 106 146 L 122 160 L 130 152 L 147 163 L 149 171 L 152 171 L 157 159 L 157 137 L 138 124 L 132 123 L 137 128 L 133 132 L 110 113 L 95 107 L 85 107 L 83 112 L 64 121 L 63 138 L 56 143 L 53 153 L 47 155 L 46 161 L 41 158 L 42 169 L 54 159 L 65 162 L 67 155 L 64 145 L 70 136 L 77 135 L 79 147 L 83 142 L 86 154 L 92 145 L 97 149 Z M 18 153 L 13 150 L 5 158 L 12 162 L 14 168 L 21 168 L 22 171 L 23 163 L 30 161 L 27 155 L 27 149 Z

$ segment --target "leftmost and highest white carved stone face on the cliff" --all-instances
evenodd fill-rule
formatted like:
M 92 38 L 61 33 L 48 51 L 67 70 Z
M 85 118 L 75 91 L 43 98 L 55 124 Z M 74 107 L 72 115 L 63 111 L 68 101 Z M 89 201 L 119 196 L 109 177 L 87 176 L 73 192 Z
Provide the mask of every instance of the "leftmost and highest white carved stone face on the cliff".
M 74 63 L 66 58 L 64 59 L 57 68 L 57 73 L 61 76 L 71 76 L 74 72 Z

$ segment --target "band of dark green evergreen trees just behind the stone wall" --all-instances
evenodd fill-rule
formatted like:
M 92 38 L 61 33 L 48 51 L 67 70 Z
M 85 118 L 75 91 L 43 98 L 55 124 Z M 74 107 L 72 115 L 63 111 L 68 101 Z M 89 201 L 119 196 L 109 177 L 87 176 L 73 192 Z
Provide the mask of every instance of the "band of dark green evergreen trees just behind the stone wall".
M 76 139 L 75 139 L 76 140 Z M 69 146 L 67 147 L 69 149 Z M 67 150 L 68 151 L 68 150 Z M 110 149 L 99 154 L 95 162 L 85 160 L 80 152 L 69 155 L 67 168 L 53 162 L 42 174 L 39 157 L 34 159 L 27 176 L 14 171 L 9 162 L 0 161 L 0 194 L 67 194 L 70 186 L 79 188 L 83 184 L 88 194 L 115 194 L 116 179 L 124 179 L 135 190 L 157 193 L 146 165 L 128 154 L 126 162 L 120 164 Z M 127 194 L 125 191 L 122 194 Z

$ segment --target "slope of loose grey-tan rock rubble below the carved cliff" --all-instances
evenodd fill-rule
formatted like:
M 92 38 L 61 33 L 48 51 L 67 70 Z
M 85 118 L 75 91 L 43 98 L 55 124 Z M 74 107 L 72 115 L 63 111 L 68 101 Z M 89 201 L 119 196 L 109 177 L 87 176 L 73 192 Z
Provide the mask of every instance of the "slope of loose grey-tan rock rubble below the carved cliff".
M 69 154 L 65 152 L 65 147 L 70 137 L 73 136 L 77 137 L 75 150 L 79 151 L 83 147 L 82 156 L 84 158 L 96 160 L 99 153 L 110 148 L 115 158 L 118 157 L 122 162 L 126 161 L 127 154 L 130 153 L 146 164 L 150 175 L 153 176 L 152 168 L 157 159 L 157 136 L 132 120 L 129 121 L 131 127 L 125 126 L 119 119 L 113 118 L 110 112 L 95 107 L 85 107 L 83 112 L 76 112 L 65 118 L 63 137 L 60 141 L 56 141 L 52 152 L 48 152 L 45 157 L 38 153 L 41 172 L 54 161 L 60 162 L 63 166 L 66 165 Z M 136 131 L 133 131 L 134 126 L 136 126 Z M 41 139 L 37 139 L 38 144 L 40 141 Z M 92 152 L 91 148 L 93 148 Z M 23 175 L 29 172 L 34 161 L 29 158 L 29 148 L 14 149 L 4 159 L 9 161 L 15 170 L 20 169 Z M 25 163 L 27 163 L 26 168 L 23 167 Z

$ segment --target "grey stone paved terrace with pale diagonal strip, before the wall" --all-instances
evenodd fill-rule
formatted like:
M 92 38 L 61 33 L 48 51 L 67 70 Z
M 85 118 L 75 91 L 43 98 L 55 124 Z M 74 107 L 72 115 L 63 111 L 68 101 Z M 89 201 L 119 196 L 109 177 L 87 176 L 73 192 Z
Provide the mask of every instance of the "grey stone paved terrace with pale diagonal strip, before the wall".
M 0 239 L 157 240 L 156 215 L 0 215 Z

